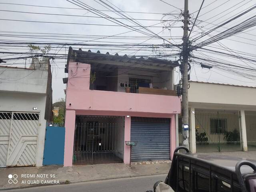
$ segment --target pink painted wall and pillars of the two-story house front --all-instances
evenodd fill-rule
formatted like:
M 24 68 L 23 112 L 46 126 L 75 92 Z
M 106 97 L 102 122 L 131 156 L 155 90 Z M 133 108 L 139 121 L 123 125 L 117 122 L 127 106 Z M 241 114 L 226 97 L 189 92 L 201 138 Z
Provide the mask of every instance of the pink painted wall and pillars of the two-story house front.
M 69 63 L 66 90 L 64 166 L 72 166 L 75 115 L 125 116 L 124 141 L 130 140 L 131 119 L 126 116 L 171 118 L 171 158 L 176 147 L 174 114 L 180 113 L 177 96 L 90 90 L 90 65 Z M 130 148 L 124 144 L 124 163 L 130 162 Z

